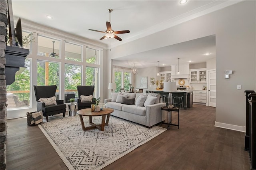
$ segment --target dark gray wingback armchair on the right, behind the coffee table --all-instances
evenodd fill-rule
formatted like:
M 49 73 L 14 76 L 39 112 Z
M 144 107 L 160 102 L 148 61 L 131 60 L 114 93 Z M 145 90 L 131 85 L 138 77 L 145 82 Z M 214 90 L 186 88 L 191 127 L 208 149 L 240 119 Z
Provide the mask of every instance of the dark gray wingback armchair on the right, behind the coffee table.
M 92 104 L 96 103 L 94 97 L 92 98 L 92 101 L 81 102 L 81 100 L 80 100 L 81 95 L 84 95 L 84 96 L 92 95 L 93 96 L 94 85 L 78 85 L 77 92 L 78 92 L 78 99 L 77 99 L 77 109 L 78 110 L 90 108 Z

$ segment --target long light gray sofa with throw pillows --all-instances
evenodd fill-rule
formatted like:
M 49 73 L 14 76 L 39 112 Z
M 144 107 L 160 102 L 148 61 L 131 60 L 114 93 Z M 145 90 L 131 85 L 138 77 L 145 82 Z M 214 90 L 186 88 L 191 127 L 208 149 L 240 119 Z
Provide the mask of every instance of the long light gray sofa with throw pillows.
M 128 99 L 134 99 L 134 103 L 124 104 L 125 102 L 116 101 L 116 96 L 124 95 Z M 154 104 L 138 107 L 135 105 L 136 100 L 138 100 L 140 95 L 146 96 L 146 98 L 154 96 L 156 101 Z M 148 96 L 150 95 L 150 96 Z M 157 123 L 160 123 L 160 111 L 161 107 L 166 106 L 166 103 L 162 102 L 162 97 L 158 93 L 111 93 L 111 99 L 105 99 L 105 104 L 107 108 L 114 109 L 111 115 L 139 123 L 146 127 L 152 127 Z M 140 97 L 141 98 L 141 97 Z M 146 103 L 146 101 L 145 101 Z M 164 114 L 162 114 L 162 121 L 164 121 Z

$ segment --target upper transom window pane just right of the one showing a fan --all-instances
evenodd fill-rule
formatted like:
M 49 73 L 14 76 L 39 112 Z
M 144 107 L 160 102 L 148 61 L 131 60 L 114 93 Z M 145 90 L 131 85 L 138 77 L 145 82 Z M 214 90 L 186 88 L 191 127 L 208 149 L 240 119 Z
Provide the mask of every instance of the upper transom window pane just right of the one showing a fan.
M 65 43 L 65 59 L 72 61 L 81 61 L 82 46 Z

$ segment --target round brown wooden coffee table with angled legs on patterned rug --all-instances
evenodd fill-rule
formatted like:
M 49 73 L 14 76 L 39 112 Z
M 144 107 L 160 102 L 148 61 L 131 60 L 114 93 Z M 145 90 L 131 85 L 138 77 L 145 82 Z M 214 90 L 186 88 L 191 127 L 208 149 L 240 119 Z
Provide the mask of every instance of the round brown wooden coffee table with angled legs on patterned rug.
M 104 108 L 102 111 L 92 112 L 91 108 L 87 108 L 87 109 L 81 109 L 81 110 L 77 111 L 77 114 L 79 115 L 83 130 L 98 128 L 99 130 L 104 131 L 105 125 L 108 126 L 110 113 L 112 113 L 113 111 L 114 111 L 114 109 Z M 107 120 L 106 120 L 106 123 L 105 123 L 106 115 L 107 115 Z M 91 127 L 84 127 L 83 116 L 88 116 L 89 117 L 90 125 L 92 125 Z M 101 121 L 100 125 L 96 125 L 95 123 L 92 123 L 92 117 L 93 116 L 102 116 L 102 121 Z

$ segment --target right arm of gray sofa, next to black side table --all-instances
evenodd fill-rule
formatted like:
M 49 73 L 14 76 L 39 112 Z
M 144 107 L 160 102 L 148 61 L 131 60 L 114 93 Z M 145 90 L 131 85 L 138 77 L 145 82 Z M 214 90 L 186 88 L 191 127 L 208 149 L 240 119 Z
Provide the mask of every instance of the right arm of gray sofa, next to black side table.
M 161 107 L 166 106 L 166 103 L 156 103 L 146 106 L 147 126 L 151 127 L 161 121 Z M 164 114 L 162 114 L 162 121 L 164 121 Z

